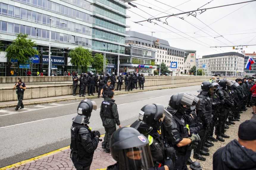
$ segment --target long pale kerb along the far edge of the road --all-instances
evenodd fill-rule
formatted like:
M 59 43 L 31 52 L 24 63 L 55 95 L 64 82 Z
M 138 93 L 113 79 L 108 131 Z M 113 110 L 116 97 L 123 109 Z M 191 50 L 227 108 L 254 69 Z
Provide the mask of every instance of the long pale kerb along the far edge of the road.
M 200 85 L 194 84 L 194 85 Z M 136 91 L 124 91 L 124 92 L 118 92 L 115 93 L 115 95 L 121 95 L 121 94 L 130 94 L 130 93 L 140 93 L 145 91 L 153 91 L 153 90 L 163 90 L 163 89 L 170 89 L 170 88 L 179 88 L 179 87 L 188 87 L 191 85 L 181 85 L 181 86 L 173 86 L 173 87 L 161 87 L 161 88 L 152 88 L 152 89 L 146 89 L 146 90 L 136 90 Z M 48 103 L 57 103 L 57 102 L 63 102 L 63 101 L 73 101 L 73 100 L 83 100 L 85 98 L 93 99 L 98 98 L 98 96 L 86 96 L 86 97 L 74 97 L 74 98 L 61 98 L 61 99 L 55 99 L 55 100 L 46 100 L 46 101 L 36 101 L 36 102 L 27 102 L 24 103 L 24 106 L 32 106 L 32 105 L 39 105 L 39 104 L 48 104 Z M 7 105 L 1 105 L 0 109 L 7 109 L 11 107 L 16 107 L 17 104 L 7 104 Z

